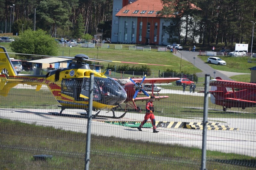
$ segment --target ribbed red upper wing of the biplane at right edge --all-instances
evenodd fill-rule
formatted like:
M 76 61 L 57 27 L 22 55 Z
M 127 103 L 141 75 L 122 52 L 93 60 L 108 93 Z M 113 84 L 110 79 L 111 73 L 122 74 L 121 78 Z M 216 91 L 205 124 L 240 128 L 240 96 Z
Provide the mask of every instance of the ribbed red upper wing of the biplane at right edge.
M 219 80 L 219 79 L 212 79 L 209 82 L 210 82 L 210 84 L 209 84 L 210 86 L 216 86 L 216 87 L 256 89 L 256 84 L 255 83 L 236 82 L 236 81 Z

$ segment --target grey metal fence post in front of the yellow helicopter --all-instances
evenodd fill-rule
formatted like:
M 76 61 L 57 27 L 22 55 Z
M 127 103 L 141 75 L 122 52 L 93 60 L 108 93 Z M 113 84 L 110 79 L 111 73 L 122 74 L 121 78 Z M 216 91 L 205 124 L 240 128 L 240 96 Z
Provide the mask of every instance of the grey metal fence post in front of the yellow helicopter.
M 89 170 L 90 164 L 90 148 L 91 148 L 91 122 L 92 122 L 92 110 L 93 110 L 93 82 L 94 74 L 90 73 L 90 97 L 88 108 L 88 123 L 87 123 L 87 135 L 86 135 L 86 157 L 85 157 L 85 170 Z

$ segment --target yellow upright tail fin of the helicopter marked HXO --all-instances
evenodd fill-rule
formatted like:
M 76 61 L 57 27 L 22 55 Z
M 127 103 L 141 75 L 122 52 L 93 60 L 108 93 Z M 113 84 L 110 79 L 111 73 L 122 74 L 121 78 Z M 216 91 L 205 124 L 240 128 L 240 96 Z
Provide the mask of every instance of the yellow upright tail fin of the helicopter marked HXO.
M 18 75 L 4 47 L 0 47 L 0 75 L 1 74 L 8 74 L 9 76 Z

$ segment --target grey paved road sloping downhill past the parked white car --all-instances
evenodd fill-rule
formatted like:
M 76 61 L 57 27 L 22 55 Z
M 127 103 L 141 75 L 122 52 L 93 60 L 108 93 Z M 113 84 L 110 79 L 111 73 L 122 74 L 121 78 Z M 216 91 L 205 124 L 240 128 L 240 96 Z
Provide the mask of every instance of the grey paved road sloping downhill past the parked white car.
M 235 72 L 229 72 L 229 71 L 219 71 L 215 70 L 212 67 L 210 67 L 207 63 L 205 63 L 203 60 L 201 60 L 197 55 L 199 55 L 199 52 L 189 52 L 189 51 L 180 51 L 180 53 L 177 51 L 177 53 L 173 53 L 175 56 L 181 57 L 182 59 L 191 62 L 194 64 L 195 62 L 195 67 L 199 68 L 202 72 L 197 73 L 197 76 L 199 77 L 204 77 L 205 74 L 209 74 L 212 77 L 221 77 L 221 79 L 225 80 L 233 80 L 230 79 L 229 77 L 235 76 L 235 75 L 240 75 L 240 74 L 250 74 L 250 73 L 235 73 Z M 196 57 L 194 59 L 194 57 Z M 216 72 L 214 74 L 214 71 Z

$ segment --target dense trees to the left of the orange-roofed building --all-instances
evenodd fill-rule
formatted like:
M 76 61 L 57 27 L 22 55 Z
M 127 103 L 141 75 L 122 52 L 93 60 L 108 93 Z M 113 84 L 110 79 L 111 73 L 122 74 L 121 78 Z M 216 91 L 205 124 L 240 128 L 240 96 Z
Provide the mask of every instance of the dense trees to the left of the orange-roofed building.
M 94 35 L 101 33 L 102 30 L 109 33 L 105 30 L 104 23 L 112 19 L 112 0 L 0 0 L 0 2 L 2 2 L 0 3 L 2 33 L 9 33 L 11 30 L 11 33 L 16 35 L 26 29 L 42 29 L 53 37 L 57 34 L 58 37 L 68 35 L 73 38 L 81 38 L 84 34 Z

